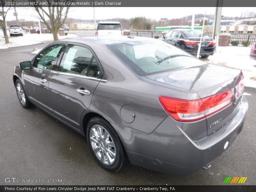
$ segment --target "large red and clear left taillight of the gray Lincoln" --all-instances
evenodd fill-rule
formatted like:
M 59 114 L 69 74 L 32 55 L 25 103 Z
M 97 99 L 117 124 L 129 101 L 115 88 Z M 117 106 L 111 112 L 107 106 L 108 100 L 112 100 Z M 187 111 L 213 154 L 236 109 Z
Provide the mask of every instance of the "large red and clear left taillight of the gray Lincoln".
M 233 102 L 231 90 L 198 100 L 181 100 L 160 96 L 159 101 L 165 111 L 177 121 L 191 122 L 203 119 Z

